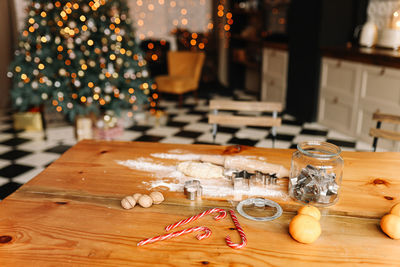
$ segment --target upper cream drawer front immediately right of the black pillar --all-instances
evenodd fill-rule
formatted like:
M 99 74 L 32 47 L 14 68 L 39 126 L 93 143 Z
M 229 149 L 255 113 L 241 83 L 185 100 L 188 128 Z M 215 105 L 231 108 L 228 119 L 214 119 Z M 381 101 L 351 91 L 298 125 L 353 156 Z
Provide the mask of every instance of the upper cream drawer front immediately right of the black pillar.
M 344 60 L 322 61 L 321 89 L 334 90 L 353 96 L 358 91 L 360 64 Z

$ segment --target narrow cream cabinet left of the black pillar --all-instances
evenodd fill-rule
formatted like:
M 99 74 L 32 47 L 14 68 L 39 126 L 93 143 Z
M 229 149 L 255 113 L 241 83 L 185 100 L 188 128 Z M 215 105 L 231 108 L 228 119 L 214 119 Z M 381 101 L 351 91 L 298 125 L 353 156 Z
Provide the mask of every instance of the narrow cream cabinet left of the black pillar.
M 262 61 L 261 100 L 286 104 L 287 51 L 264 48 Z

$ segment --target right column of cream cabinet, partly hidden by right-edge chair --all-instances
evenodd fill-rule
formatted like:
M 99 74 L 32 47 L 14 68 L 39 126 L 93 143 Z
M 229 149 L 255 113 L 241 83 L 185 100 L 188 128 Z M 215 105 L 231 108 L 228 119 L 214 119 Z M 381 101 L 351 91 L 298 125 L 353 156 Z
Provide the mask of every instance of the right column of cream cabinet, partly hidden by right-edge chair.
M 359 97 L 357 136 L 372 145 L 369 129 L 376 126 L 372 114 L 376 110 L 400 115 L 400 70 L 386 67 L 364 65 Z M 382 129 L 400 131 L 400 127 L 382 124 Z M 379 139 L 378 148 L 391 151 L 400 150 L 399 142 Z

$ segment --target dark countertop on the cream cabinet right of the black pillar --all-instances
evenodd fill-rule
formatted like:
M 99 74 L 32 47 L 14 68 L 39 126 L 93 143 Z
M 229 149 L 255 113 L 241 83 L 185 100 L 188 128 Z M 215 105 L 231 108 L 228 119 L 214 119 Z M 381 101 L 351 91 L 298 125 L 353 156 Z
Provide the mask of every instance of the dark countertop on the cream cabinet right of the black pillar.
M 367 47 L 324 47 L 322 56 L 360 63 L 400 68 L 400 51 Z

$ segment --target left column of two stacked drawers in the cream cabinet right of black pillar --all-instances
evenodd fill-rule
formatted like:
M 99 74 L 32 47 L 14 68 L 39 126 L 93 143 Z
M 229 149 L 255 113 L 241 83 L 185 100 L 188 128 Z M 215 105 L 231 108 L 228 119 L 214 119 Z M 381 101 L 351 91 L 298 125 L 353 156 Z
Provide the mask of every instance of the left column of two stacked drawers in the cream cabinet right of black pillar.
M 354 135 L 360 68 L 358 63 L 323 59 L 318 109 L 321 124 Z

